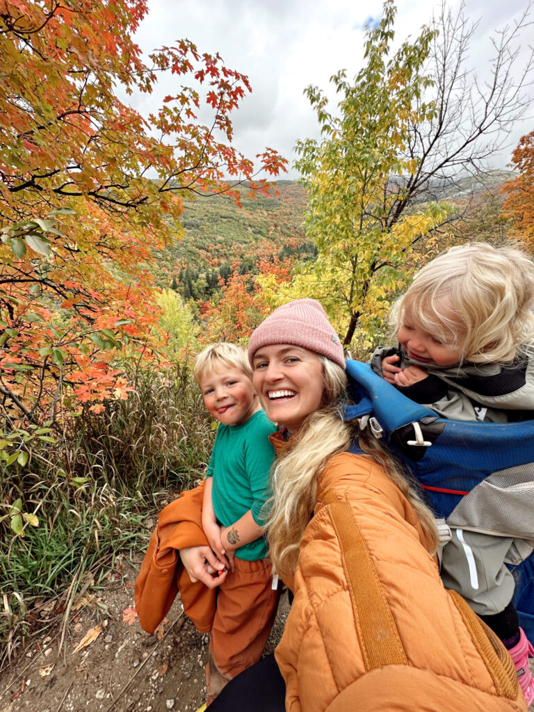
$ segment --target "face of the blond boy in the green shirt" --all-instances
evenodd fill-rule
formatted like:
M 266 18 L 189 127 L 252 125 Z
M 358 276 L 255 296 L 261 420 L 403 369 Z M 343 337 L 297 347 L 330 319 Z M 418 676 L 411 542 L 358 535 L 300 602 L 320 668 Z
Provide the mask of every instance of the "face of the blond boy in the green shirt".
M 251 379 L 240 368 L 217 365 L 199 379 L 204 405 L 223 425 L 244 423 L 258 409 Z

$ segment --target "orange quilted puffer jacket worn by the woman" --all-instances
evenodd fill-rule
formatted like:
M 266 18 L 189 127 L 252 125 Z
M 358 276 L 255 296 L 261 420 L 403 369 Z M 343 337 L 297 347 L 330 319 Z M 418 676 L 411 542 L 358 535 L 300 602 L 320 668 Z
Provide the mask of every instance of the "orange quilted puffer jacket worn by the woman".
M 320 474 L 291 583 L 276 649 L 289 712 L 525 712 L 506 649 L 444 589 L 412 506 L 369 456 Z

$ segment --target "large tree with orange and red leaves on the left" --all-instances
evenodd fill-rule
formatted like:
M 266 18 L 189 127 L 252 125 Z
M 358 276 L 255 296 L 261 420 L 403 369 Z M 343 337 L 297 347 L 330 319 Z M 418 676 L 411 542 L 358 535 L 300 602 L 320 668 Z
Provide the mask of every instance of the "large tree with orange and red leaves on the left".
M 142 265 L 179 231 L 183 196 L 239 201 L 236 183 L 255 175 L 231 145 L 246 75 L 187 40 L 144 58 L 132 34 L 146 12 L 145 0 L 0 0 L 0 393 L 16 419 L 127 397 L 112 356 L 159 340 Z M 117 96 L 161 78 L 169 93 L 148 117 Z M 259 159 L 283 167 L 270 149 Z

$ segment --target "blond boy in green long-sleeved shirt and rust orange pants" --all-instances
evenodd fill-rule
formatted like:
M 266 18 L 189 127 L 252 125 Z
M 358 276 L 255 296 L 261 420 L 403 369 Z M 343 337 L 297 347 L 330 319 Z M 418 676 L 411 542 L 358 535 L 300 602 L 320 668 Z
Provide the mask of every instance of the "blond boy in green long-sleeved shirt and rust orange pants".
M 216 343 L 194 367 L 204 404 L 220 425 L 204 486 L 202 528 L 229 568 L 216 597 L 206 666 L 208 701 L 260 659 L 271 631 L 278 590 L 263 538 L 263 504 L 271 496 L 273 424 L 254 391 L 246 350 Z

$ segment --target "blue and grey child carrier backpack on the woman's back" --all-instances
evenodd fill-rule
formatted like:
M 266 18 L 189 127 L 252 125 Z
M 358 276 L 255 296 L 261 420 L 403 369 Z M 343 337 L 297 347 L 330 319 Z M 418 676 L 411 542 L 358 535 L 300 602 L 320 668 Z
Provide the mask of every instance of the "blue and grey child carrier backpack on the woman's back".
M 516 539 L 507 564 L 515 579 L 513 604 L 534 644 L 534 420 L 481 423 L 449 420 L 419 405 L 379 377 L 370 365 L 347 360 L 359 418 L 419 481 L 436 518 L 451 527 Z

